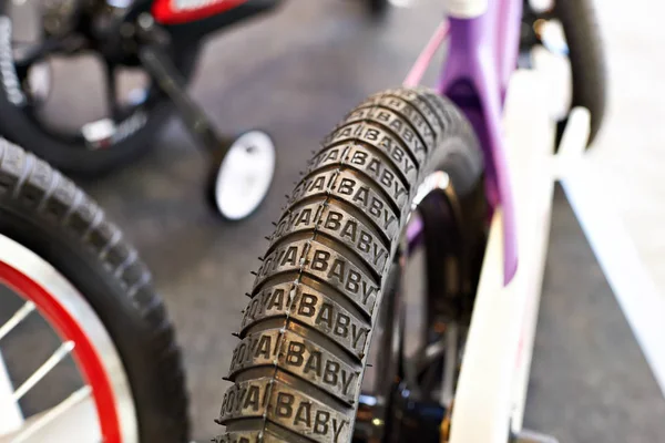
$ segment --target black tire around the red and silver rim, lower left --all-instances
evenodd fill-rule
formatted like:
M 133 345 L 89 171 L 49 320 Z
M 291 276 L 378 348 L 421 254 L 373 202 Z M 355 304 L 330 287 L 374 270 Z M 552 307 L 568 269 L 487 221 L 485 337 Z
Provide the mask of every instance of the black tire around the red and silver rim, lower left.
M 124 364 L 140 441 L 187 442 L 181 352 L 146 266 L 83 190 L 1 138 L 0 233 L 55 267 L 92 306 Z

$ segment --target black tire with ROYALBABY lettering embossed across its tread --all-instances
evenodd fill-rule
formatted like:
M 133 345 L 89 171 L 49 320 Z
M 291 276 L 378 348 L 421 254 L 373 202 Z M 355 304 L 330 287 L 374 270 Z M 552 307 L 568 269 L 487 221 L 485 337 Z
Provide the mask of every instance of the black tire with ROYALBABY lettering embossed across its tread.
M 350 441 L 378 305 L 415 193 L 433 171 L 462 198 L 482 186 L 470 125 L 429 90 L 374 95 L 325 140 L 257 272 L 219 441 Z

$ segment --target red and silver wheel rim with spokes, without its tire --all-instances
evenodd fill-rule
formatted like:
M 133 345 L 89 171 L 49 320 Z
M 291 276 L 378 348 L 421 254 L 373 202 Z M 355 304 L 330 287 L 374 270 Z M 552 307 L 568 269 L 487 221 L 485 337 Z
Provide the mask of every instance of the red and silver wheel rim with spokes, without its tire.
M 2 340 L 11 339 L 12 331 L 34 315 L 40 315 L 62 340 L 55 352 L 13 391 L 11 400 L 18 405 L 22 395 L 45 382 L 45 375 L 69 353 L 84 383 L 65 400 L 29 418 L 4 437 L 16 443 L 30 441 L 40 432 L 55 429 L 59 421 L 72 419 L 74 412 L 90 416 L 90 408 L 83 408 L 90 405 L 96 415 L 96 423 L 90 423 L 91 435 L 99 435 L 106 443 L 137 442 L 135 408 L 121 359 L 83 296 L 42 258 L 1 235 L 0 282 L 23 299 L 22 307 L 0 324 L 0 350 Z M 76 432 L 89 430 L 83 423 L 76 423 Z M 0 442 L 4 443 L 2 433 Z

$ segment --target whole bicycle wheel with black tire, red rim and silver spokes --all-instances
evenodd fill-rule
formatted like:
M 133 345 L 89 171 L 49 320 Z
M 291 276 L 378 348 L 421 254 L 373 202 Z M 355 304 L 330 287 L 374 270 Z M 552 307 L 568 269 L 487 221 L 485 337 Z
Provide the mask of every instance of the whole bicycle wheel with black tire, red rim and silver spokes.
M 180 350 L 149 270 L 81 189 L 6 141 L 0 233 L 0 402 L 14 411 L 0 442 L 186 442 Z

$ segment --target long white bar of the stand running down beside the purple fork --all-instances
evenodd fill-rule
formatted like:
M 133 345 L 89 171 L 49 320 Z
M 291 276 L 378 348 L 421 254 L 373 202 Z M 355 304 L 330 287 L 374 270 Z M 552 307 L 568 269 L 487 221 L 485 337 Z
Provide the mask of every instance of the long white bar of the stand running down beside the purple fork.
M 505 443 L 522 427 L 554 188 L 554 122 L 542 84 L 535 71 L 518 71 L 511 79 L 504 124 L 520 264 L 504 287 L 499 208 L 490 228 L 452 408 L 451 443 Z

